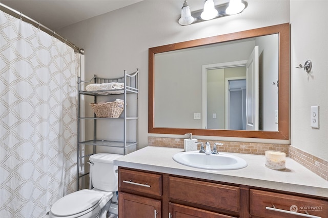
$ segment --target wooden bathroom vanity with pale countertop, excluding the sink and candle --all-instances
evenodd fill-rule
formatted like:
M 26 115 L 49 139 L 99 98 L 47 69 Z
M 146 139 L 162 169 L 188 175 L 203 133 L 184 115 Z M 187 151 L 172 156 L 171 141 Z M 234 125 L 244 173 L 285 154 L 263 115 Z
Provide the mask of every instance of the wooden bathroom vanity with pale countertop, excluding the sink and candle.
M 328 217 L 328 181 L 290 158 L 275 171 L 264 156 L 233 154 L 248 166 L 212 171 L 175 162 L 179 152 L 146 147 L 114 161 L 119 217 Z

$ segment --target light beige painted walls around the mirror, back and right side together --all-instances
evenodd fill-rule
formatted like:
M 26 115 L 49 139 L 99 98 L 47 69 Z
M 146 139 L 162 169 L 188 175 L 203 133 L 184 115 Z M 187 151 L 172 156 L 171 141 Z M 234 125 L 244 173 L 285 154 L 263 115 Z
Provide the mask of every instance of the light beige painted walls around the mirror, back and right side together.
M 188 1 L 192 10 L 199 9 L 203 1 Z M 241 14 L 196 23 L 178 25 L 183 1 L 142 1 L 104 15 L 76 23 L 58 32 L 86 51 L 86 75 L 117 76 L 123 69 L 140 68 L 139 143 L 147 146 L 148 136 L 184 137 L 182 135 L 148 134 L 148 48 L 180 41 L 221 35 L 242 30 L 292 22 L 292 144 L 323 159 L 327 158 L 328 120 L 326 94 L 328 82 L 325 42 L 327 25 L 313 25 L 327 20 L 325 1 L 249 0 L 248 8 Z M 307 4 L 316 5 L 306 10 Z M 193 7 L 195 6 L 195 7 Z M 291 7 L 290 7 L 291 6 Z M 196 8 L 198 7 L 198 8 Z M 304 28 L 310 26 L 310 31 Z M 322 34 L 317 34 L 317 32 Z M 294 66 L 307 59 L 314 62 L 313 74 L 308 76 Z M 325 95 L 324 95 L 325 93 Z M 320 129 L 310 128 L 310 106 L 320 106 Z M 195 136 L 197 137 L 197 136 Z M 204 137 L 197 137 L 199 139 Z M 211 137 L 219 140 L 222 137 Z M 224 138 L 229 140 L 229 138 Z M 233 138 L 231 140 L 272 142 Z M 289 143 L 289 141 L 283 141 Z

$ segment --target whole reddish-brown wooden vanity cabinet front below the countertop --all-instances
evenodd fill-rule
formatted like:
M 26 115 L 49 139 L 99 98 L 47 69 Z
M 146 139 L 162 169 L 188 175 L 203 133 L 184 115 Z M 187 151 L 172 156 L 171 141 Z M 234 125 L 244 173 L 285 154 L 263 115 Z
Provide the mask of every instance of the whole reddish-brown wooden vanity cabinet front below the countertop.
M 118 182 L 120 218 L 328 218 L 326 198 L 124 167 Z

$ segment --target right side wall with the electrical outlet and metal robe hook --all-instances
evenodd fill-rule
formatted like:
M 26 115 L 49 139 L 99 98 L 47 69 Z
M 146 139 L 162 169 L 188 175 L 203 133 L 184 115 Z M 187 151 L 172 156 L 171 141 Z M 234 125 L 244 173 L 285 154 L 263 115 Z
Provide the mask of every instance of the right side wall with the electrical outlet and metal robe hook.
M 324 160 L 328 160 L 327 8 L 327 1 L 291 1 L 292 146 Z M 295 68 L 309 59 L 310 74 Z M 310 127 L 310 108 L 315 105 L 320 107 L 320 129 Z

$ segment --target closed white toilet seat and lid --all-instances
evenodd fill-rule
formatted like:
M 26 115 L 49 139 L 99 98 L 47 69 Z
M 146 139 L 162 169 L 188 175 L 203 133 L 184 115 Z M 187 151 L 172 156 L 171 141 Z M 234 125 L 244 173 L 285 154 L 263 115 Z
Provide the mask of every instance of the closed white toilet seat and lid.
M 100 202 L 103 201 L 104 193 L 83 189 L 73 193 L 56 201 L 50 210 L 50 217 L 83 217 L 84 214 L 88 214 L 86 217 L 95 217 L 100 210 Z

